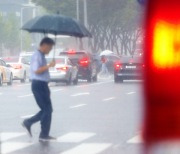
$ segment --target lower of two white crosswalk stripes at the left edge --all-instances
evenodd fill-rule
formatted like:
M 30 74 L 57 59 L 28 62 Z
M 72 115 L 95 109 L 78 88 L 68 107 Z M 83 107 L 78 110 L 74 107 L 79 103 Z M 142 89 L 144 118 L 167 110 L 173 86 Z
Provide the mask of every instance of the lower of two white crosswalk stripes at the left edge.
M 26 148 L 33 145 L 33 143 L 21 143 L 21 142 L 5 142 L 1 143 L 1 154 L 9 154 L 14 151 Z

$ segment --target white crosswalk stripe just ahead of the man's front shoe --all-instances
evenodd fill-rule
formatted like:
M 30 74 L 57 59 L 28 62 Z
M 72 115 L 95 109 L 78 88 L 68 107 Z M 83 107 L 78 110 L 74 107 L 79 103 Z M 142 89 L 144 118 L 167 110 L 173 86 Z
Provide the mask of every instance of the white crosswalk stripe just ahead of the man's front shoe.
M 61 136 L 57 139 L 58 142 L 63 143 L 79 143 L 84 140 L 87 140 L 93 136 L 95 136 L 95 133 L 88 133 L 88 132 L 70 132 L 64 136 Z

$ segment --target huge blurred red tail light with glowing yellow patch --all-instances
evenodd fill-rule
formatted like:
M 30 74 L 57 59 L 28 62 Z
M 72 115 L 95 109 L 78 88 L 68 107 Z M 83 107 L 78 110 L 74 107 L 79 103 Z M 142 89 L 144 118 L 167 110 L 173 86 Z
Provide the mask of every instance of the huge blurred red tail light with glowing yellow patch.
M 180 0 L 149 0 L 145 30 L 144 140 L 180 139 Z

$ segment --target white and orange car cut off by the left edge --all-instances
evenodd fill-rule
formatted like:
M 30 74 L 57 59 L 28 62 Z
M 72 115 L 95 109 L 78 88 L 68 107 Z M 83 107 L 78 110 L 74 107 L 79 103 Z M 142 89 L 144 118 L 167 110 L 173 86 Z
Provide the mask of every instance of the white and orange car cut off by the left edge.
M 6 62 L 0 59 L 0 86 L 2 86 L 3 83 L 12 85 L 13 73 L 10 67 L 6 64 Z

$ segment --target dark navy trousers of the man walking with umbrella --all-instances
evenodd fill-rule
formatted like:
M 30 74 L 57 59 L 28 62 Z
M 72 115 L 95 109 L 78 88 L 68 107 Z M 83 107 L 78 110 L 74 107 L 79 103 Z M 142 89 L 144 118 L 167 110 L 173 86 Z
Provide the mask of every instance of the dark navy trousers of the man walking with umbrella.
M 50 99 L 50 90 L 47 82 L 33 80 L 32 92 L 34 94 L 37 105 L 41 109 L 35 116 L 26 120 L 26 123 L 31 126 L 34 123 L 41 122 L 40 137 L 48 137 L 51 127 L 52 104 Z

